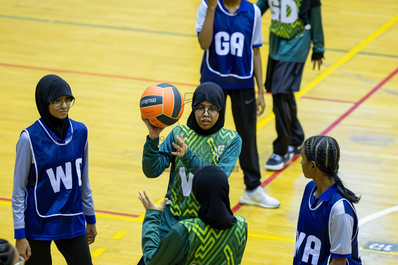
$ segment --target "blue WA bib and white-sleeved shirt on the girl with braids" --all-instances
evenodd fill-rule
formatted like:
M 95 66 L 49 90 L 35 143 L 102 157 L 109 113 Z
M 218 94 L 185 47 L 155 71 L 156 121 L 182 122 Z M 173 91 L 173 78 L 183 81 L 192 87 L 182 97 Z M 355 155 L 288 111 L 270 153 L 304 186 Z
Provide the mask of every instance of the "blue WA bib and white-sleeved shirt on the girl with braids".
M 346 258 L 360 265 L 358 217 L 337 184 L 315 198 L 317 187 L 310 181 L 304 190 L 297 222 L 293 265 L 328 265 L 331 258 Z

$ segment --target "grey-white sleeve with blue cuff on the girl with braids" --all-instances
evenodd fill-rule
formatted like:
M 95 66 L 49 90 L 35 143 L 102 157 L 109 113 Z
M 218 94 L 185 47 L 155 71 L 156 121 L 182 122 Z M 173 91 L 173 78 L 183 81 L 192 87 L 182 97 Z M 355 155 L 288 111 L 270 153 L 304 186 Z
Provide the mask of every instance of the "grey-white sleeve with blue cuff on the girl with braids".
M 353 214 L 351 206 L 345 200 L 338 201 L 330 213 L 329 231 L 332 257 L 351 257 Z

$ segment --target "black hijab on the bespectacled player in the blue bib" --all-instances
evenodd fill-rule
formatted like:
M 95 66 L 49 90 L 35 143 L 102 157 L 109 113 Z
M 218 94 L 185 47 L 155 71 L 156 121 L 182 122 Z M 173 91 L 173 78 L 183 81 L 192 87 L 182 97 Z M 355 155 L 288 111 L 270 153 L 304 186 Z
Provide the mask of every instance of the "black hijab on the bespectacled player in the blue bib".
M 68 83 L 58 75 L 46 75 L 37 83 L 35 93 L 37 110 L 51 132 L 55 133 L 62 141 L 69 128 L 68 116 L 64 119 L 54 117 L 49 112 L 49 104 L 64 95 L 73 97 Z

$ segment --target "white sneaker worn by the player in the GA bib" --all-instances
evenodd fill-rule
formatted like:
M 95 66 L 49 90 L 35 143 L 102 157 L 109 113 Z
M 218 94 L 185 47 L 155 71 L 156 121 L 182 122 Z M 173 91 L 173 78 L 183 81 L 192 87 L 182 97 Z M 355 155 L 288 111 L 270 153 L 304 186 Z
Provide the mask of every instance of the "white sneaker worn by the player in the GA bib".
M 247 205 L 257 205 L 264 208 L 278 208 L 281 202 L 274 197 L 269 196 L 261 186 L 258 186 L 256 190 L 245 191 L 240 197 L 239 202 Z

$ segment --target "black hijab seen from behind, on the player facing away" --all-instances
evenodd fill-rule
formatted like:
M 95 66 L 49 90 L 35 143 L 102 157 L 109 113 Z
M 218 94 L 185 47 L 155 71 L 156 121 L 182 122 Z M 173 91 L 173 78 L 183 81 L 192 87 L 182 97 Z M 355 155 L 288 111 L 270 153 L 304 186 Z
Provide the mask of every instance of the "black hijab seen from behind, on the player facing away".
M 224 171 L 218 166 L 199 167 L 193 176 L 192 191 L 200 203 L 198 217 L 216 228 L 224 230 L 236 224 L 229 203 L 229 184 Z

